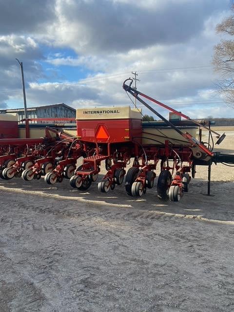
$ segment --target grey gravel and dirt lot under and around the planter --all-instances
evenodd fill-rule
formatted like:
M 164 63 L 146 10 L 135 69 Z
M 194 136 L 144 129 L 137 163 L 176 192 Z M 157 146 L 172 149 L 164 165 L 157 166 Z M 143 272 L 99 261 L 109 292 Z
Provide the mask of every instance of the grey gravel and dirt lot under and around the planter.
M 233 312 L 234 168 L 212 170 L 179 203 L 0 180 L 0 312 Z

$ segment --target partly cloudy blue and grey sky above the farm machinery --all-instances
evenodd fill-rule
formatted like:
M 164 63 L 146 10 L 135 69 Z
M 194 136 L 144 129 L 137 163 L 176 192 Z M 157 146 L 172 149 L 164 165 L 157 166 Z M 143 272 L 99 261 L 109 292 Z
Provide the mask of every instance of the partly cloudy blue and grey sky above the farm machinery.
M 0 108 L 23 107 L 17 58 L 28 107 L 132 105 L 122 82 L 137 71 L 139 91 L 190 117 L 234 117 L 211 64 L 229 8 L 230 0 L 0 0 Z

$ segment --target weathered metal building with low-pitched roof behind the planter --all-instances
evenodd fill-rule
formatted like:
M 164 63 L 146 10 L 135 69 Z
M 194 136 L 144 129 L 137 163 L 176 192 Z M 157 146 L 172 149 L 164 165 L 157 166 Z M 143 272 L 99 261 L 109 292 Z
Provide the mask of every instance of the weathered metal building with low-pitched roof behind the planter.
M 64 103 L 38 106 L 38 107 L 29 107 L 27 108 L 28 118 L 53 118 L 53 117 L 68 117 L 75 118 L 76 110 Z M 19 116 L 19 121 L 25 118 L 24 109 L 0 109 L 1 113 L 17 113 Z

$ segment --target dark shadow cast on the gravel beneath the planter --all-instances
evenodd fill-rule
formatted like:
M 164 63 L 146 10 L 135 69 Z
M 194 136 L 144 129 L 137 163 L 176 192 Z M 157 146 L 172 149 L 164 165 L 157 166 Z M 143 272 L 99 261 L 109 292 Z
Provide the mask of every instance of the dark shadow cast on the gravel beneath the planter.
M 191 215 L 213 220 L 234 221 L 233 203 L 233 182 L 212 182 L 211 196 L 207 196 L 207 182 L 194 179 L 190 183 L 188 193 L 179 202 L 161 201 L 157 197 L 156 181 L 152 189 L 147 189 L 146 194 L 141 197 L 131 197 L 125 192 L 124 183 L 116 186 L 113 191 L 108 193 L 98 192 L 98 182 L 103 175 L 98 177 L 87 191 L 79 191 L 70 187 L 69 180 L 64 179 L 61 183 L 48 185 L 43 179 L 32 180 L 29 182 L 21 178 L 12 180 L 0 180 L 0 188 L 16 189 L 29 192 L 29 195 L 50 196 L 62 201 L 76 200 L 83 202 L 90 208 L 95 209 L 134 209 L 144 211 L 155 211 L 169 213 L 173 215 Z M 46 199 L 45 199 L 46 200 Z M 65 206 L 69 203 L 64 203 Z

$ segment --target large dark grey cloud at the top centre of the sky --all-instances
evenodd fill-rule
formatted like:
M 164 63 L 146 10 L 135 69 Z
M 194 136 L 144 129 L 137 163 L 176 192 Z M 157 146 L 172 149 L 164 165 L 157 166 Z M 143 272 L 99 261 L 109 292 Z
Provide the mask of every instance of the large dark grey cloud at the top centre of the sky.
M 157 44 L 185 42 L 228 0 L 133 1 L 57 0 L 54 44 L 78 53 L 117 53 Z M 154 4 L 155 3 L 155 4 Z M 141 6 L 141 7 L 139 7 Z

